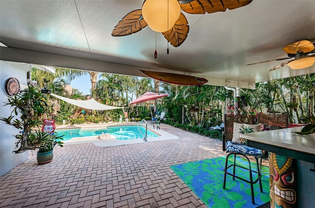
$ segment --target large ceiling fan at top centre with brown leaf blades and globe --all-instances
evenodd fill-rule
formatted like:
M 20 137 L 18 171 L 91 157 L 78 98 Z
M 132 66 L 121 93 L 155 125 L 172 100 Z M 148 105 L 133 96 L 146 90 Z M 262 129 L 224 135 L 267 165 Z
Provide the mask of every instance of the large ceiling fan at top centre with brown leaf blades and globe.
M 235 9 L 252 0 L 145 0 L 142 9 L 128 13 L 112 31 L 113 36 L 136 33 L 147 25 L 172 46 L 180 46 L 189 32 L 188 21 L 181 10 L 190 14 L 214 13 Z

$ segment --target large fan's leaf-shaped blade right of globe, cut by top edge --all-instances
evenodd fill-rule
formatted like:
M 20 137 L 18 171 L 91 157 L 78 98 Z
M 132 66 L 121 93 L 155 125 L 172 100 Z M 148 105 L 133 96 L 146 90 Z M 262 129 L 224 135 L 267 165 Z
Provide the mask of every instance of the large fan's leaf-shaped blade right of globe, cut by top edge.
M 252 0 L 179 0 L 181 8 L 189 14 L 204 14 L 236 9 L 246 6 Z

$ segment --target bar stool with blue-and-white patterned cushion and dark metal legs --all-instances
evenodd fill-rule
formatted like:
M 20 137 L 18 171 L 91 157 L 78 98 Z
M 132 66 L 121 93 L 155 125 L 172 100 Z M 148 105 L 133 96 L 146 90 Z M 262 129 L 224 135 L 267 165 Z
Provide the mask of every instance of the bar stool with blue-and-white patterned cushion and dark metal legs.
M 223 181 L 223 189 L 225 189 L 225 183 L 226 183 L 226 175 L 230 175 L 233 177 L 233 180 L 235 180 L 235 178 L 238 178 L 240 180 L 243 180 L 245 182 L 250 183 L 251 185 L 251 195 L 252 195 L 252 204 L 255 204 L 254 201 L 254 192 L 253 192 L 253 184 L 259 182 L 259 188 L 260 188 L 260 192 L 262 192 L 262 185 L 261 185 L 261 161 L 262 158 L 265 157 L 265 154 L 262 152 L 261 149 L 256 149 L 256 148 L 252 148 L 249 147 L 245 144 L 240 144 L 240 143 L 236 143 L 236 142 L 232 142 L 232 141 L 228 141 L 226 142 L 226 152 L 229 152 L 229 154 L 226 156 L 226 160 L 225 160 L 225 167 L 223 169 L 224 171 L 224 181 Z M 229 157 L 234 155 L 234 159 L 232 159 L 234 162 L 232 164 L 228 164 L 229 162 Z M 244 167 L 244 166 L 240 166 L 238 164 L 236 164 L 236 156 L 240 155 L 243 156 L 244 158 L 247 159 L 248 161 L 248 165 L 249 167 Z M 256 161 L 256 170 L 252 170 L 252 165 L 251 165 L 251 161 L 248 158 L 248 156 L 253 156 L 255 158 Z M 249 171 L 249 178 L 250 180 L 246 179 L 246 178 L 241 178 L 239 176 L 236 176 L 235 174 L 235 168 L 239 167 L 245 170 Z M 233 173 L 227 172 L 227 170 L 229 168 L 233 169 Z M 257 174 L 256 178 L 253 178 L 252 176 L 252 172 Z

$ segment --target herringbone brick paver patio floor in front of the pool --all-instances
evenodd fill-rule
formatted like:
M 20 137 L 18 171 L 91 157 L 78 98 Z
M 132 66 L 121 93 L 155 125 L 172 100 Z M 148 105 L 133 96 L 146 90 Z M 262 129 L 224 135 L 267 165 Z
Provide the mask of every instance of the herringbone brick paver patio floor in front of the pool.
M 171 165 L 225 155 L 221 141 L 161 124 L 180 139 L 117 147 L 92 143 L 36 153 L 0 178 L 0 207 L 205 208 Z

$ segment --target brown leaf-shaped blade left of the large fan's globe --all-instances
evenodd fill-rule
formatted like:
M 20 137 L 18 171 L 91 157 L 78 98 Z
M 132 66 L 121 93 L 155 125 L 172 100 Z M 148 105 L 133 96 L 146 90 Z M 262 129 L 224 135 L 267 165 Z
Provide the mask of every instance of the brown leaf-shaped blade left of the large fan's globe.
M 142 18 L 142 9 L 129 12 L 123 20 L 115 26 L 112 31 L 113 36 L 125 36 L 136 33 L 147 27 L 148 23 Z

